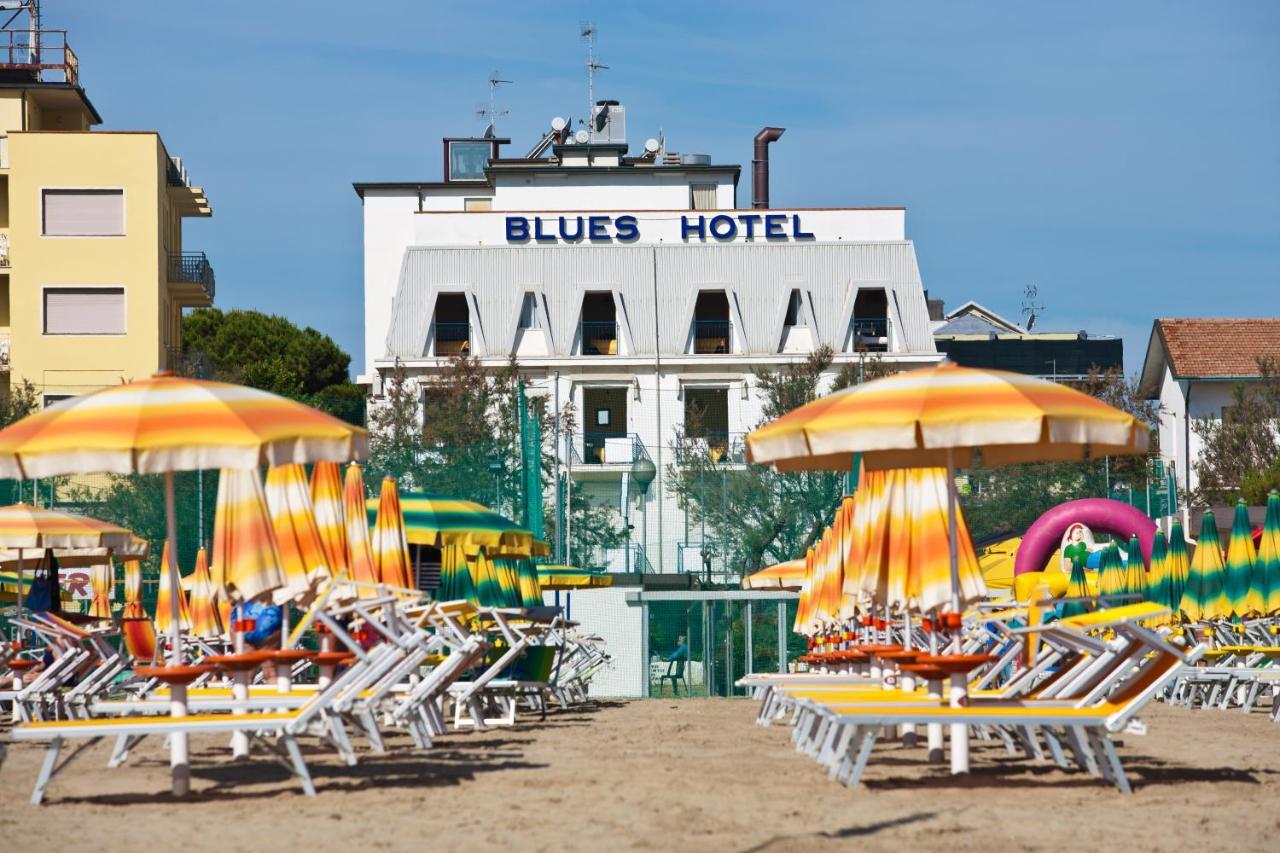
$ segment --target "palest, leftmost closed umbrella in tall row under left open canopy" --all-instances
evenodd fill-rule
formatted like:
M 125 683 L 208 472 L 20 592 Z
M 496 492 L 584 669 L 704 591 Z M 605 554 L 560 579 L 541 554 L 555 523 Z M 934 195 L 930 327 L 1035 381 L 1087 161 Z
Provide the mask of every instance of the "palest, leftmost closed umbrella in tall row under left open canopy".
M 265 601 L 285 585 L 271 515 L 256 470 L 224 469 L 218 478 L 212 552 L 219 598 Z

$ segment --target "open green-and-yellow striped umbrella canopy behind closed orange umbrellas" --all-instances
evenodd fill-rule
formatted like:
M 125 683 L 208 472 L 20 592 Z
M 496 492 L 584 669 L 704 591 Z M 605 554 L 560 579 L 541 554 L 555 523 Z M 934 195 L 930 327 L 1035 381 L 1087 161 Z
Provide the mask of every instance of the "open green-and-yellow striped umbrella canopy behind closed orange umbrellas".
M 399 502 L 404 517 L 404 537 L 412 544 L 440 548 L 456 543 L 468 553 L 475 553 L 476 548 L 488 548 L 490 553 L 507 556 L 550 555 L 550 546 L 483 503 L 424 492 L 403 492 Z M 369 500 L 366 511 L 369 523 L 372 524 L 378 501 Z

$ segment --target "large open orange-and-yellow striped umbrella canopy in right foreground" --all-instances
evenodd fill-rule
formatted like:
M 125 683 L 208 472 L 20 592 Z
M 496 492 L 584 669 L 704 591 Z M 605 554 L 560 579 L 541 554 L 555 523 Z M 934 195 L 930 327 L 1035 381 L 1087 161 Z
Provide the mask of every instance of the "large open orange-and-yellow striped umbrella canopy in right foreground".
M 1036 377 L 942 362 L 854 386 L 746 437 L 778 470 L 968 466 L 1142 453 L 1148 428 L 1085 393 Z

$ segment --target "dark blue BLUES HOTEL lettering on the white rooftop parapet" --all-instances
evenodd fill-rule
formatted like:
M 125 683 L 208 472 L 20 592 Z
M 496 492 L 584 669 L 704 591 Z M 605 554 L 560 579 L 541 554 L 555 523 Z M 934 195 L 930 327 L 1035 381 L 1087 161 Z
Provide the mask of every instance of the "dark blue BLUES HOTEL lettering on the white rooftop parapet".
M 689 241 L 813 240 L 797 214 L 716 214 L 682 215 L 680 238 Z M 630 243 L 640 238 L 640 222 L 622 216 L 507 216 L 508 243 Z

